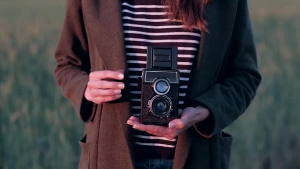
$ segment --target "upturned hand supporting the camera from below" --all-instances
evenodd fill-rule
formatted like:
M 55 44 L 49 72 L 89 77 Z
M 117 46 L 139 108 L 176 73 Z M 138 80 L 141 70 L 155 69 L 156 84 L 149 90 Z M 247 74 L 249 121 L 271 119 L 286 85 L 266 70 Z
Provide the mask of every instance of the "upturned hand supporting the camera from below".
M 135 129 L 146 131 L 150 134 L 165 137 L 171 140 L 177 137 L 182 131 L 208 118 L 209 115 L 210 112 L 205 107 L 187 107 L 182 111 L 181 118 L 171 121 L 169 123 L 169 127 L 143 125 L 141 124 L 140 120 L 134 116 L 130 117 L 130 119 L 127 121 L 127 124 L 133 126 Z

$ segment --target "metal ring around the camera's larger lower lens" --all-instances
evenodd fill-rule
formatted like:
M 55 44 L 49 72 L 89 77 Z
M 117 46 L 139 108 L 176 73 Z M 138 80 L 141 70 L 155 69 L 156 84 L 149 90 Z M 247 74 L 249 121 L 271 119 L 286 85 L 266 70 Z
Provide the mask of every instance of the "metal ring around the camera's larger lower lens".
M 152 108 L 153 103 L 157 104 L 157 99 L 159 99 L 159 98 L 164 99 L 164 101 L 166 101 L 166 103 L 169 103 L 169 104 L 170 104 L 170 106 L 167 106 L 167 107 L 165 108 L 165 110 L 166 110 L 165 112 L 160 113 L 160 114 L 164 114 L 164 115 L 158 115 L 158 114 L 155 112 L 155 110 L 153 110 L 153 108 Z M 172 100 L 170 99 L 170 97 L 168 97 L 168 96 L 166 96 L 166 95 L 155 95 L 155 96 L 152 97 L 151 100 L 149 101 L 149 109 L 150 109 L 150 112 L 151 112 L 154 116 L 156 116 L 156 117 L 160 117 L 160 118 L 161 118 L 161 117 L 166 117 L 166 116 L 168 116 L 168 115 L 171 113 L 172 108 L 173 108 Z

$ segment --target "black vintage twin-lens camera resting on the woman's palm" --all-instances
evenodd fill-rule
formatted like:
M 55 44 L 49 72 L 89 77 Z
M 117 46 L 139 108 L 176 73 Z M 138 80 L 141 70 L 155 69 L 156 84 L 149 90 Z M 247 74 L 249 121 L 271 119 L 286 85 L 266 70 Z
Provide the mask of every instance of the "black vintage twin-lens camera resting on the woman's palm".
M 148 47 L 142 72 L 141 122 L 167 126 L 178 118 L 177 47 Z

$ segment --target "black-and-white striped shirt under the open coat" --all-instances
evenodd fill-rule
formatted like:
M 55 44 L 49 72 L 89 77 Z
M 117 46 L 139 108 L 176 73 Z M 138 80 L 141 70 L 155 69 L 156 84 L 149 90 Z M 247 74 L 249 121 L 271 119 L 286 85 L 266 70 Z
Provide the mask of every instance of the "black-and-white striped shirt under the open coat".
M 147 46 L 178 47 L 180 71 L 179 109 L 184 99 L 195 54 L 200 43 L 200 30 L 184 30 L 180 21 L 170 21 L 159 0 L 123 0 L 122 17 L 126 59 L 129 70 L 133 116 L 141 112 L 141 86 L 138 78 L 146 68 Z M 134 130 L 135 154 L 139 158 L 173 159 L 177 139 Z

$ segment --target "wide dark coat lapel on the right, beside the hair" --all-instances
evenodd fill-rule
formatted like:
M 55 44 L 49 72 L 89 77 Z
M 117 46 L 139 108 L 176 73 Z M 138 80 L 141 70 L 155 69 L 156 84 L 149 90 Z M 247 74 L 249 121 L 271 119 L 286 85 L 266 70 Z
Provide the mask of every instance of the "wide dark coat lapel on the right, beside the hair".
M 188 96 L 199 95 L 215 83 L 219 74 L 217 69 L 220 68 L 225 52 L 230 47 L 236 6 L 237 0 L 213 0 L 207 6 L 208 33 L 202 33 L 203 46 L 200 46 L 197 64 L 194 65 L 189 82 L 189 91 L 193 92 L 187 93 Z

